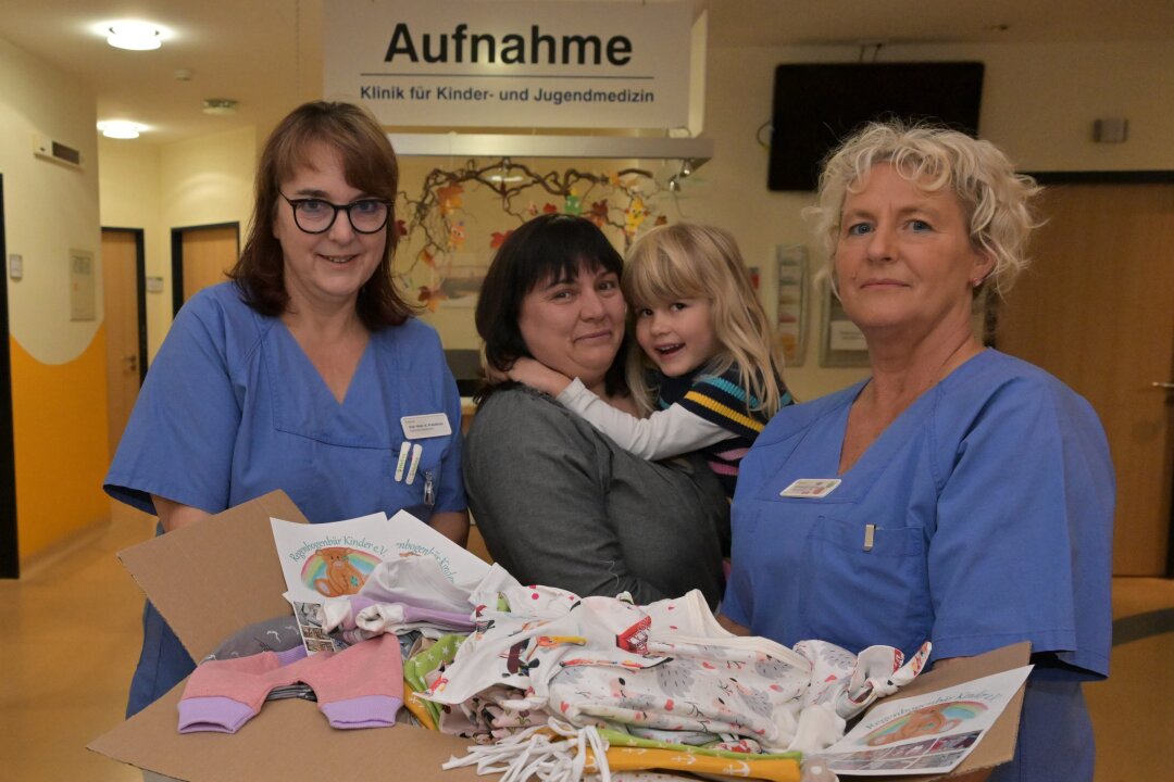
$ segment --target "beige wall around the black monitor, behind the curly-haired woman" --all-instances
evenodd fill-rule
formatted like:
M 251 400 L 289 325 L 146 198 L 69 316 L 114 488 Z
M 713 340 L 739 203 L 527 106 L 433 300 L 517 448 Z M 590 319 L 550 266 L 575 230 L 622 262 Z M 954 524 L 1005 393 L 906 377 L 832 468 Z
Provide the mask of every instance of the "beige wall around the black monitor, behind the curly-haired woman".
M 715 140 L 716 149 L 699 172 L 703 183 L 686 189 L 684 211 L 735 233 L 747 263 L 762 267 L 768 307 L 776 245 L 809 245 L 812 265 L 824 258 L 799 218 L 810 196 L 767 190 L 767 150 L 756 132 L 770 120 L 775 66 L 853 62 L 857 55 L 855 47 L 710 50 L 703 135 Z M 1174 170 L 1174 59 L 1166 43 L 889 46 L 883 59 L 985 62 L 980 134 L 1025 170 Z M 1127 143 L 1092 141 L 1092 123 L 1102 116 L 1129 118 Z M 805 361 L 787 373 L 799 399 L 864 376 L 858 369 L 818 366 L 819 314 L 818 308 L 808 313 Z

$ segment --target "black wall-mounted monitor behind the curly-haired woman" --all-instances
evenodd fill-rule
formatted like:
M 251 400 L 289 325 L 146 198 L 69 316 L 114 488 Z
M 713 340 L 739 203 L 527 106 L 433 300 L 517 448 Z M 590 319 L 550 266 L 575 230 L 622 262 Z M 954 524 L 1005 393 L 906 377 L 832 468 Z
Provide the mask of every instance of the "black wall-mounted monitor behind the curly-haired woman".
M 931 120 L 977 136 L 981 96 L 981 62 L 781 64 L 767 186 L 815 190 L 823 158 L 869 120 Z

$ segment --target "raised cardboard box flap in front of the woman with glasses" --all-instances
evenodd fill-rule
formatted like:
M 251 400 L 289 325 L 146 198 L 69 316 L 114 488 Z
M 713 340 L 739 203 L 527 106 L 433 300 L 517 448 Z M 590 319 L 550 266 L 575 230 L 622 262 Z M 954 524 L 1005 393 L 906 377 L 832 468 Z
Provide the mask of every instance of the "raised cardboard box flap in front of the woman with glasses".
M 306 521 L 284 491 L 271 491 L 119 552 L 194 660 L 242 627 L 292 613 L 270 516 Z

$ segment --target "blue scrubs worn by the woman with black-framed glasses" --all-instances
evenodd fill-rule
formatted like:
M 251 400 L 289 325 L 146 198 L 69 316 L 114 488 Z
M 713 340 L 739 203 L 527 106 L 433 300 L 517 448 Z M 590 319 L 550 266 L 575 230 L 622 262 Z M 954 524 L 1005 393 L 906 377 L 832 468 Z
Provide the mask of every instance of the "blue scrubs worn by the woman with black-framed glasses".
M 412 440 L 416 480 L 397 481 L 403 419 L 436 413 L 451 434 Z M 466 506 L 460 446 L 460 397 L 432 328 L 409 319 L 372 334 L 338 402 L 284 324 L 225 283 L 176 315 L 104 488 L 149 514 L 150 495 L 216 514 L 283 489 L 310 522 L 380 510 L 427 521 Z M 128 714 L 194 667 L 149 603 L 143 625 Z

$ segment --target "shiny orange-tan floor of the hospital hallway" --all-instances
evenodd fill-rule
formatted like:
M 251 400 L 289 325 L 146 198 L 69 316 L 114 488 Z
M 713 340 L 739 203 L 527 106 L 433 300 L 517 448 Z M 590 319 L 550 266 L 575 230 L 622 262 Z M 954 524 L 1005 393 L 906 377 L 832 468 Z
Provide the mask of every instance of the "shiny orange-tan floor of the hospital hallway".
M 139 590 L 115 552 L 153 519 L 117 508 L 110 528 L 26 574 L 0 580 L 0 778 L 139 782 L 85 747 L 122 720 L 139 648 Z M 1170 778 L 1174 580 L 1114 580 L 1113 675 L 1086 688 L 1098 737 L 1097 782 Z

